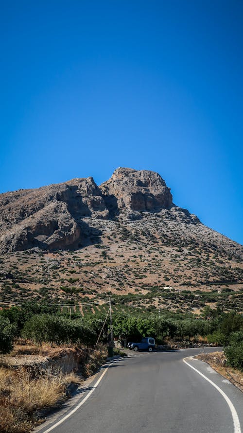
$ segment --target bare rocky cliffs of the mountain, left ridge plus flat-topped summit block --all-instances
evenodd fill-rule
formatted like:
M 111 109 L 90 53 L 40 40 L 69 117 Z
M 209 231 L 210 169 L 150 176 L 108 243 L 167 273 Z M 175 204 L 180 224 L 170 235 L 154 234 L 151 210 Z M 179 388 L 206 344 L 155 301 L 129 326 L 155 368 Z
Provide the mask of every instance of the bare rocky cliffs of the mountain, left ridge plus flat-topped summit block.
M 154 211 L 172 206 L 161 176 L 117 169 L 99 188 L 92 177 L 35 190 L 0 194 L 0 250 L 77 247 L 87 236 L 83 219 L 112 219 L 122 210 Z M 83 233 L 85 232 L 85 233 Z

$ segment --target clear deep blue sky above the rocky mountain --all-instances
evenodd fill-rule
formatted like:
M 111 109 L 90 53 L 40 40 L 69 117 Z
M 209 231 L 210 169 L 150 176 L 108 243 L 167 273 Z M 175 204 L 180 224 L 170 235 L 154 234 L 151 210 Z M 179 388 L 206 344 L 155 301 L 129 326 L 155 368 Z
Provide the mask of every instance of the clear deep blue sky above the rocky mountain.
M 243 243 L 243 2 L 5 1 L 0 192 L 117 167 Z

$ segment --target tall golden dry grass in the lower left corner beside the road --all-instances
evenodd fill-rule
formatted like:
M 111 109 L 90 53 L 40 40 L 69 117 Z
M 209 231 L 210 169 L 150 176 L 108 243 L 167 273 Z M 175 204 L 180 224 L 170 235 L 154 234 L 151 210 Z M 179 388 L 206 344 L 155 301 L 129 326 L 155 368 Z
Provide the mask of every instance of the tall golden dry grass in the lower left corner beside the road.
M 28 433 L 35 411 L 55 406 L 66 397 L 67 385 L 81 383 L 74 373 L 48 370 L 31 378 L 24 369 L 0 368 L 0 432 Z

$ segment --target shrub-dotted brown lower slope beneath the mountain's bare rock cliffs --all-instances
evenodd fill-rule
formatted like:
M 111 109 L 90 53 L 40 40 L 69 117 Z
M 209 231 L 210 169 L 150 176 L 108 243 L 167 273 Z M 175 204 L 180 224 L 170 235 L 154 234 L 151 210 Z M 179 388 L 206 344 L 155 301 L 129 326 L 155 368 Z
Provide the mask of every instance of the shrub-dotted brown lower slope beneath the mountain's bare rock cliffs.
M 206 227 L 199 237 L 194 225 L 183 226 L 184 233 L 166 212 L 139 221 L 89 224 L 94 230 L 100 226 L 100 238 L 75 251 L 36 248 L 2 255 L 2 306 L 30 300 L 61 305 L 70 298 L 99 302 L 112 294 L 116 305 L 123 302 L 123 309 L 141 312 L 160 308 L 200 316 L 207 305 L 242 312 L 240 245 L 226 245 L 220 235 L 211 238 Z

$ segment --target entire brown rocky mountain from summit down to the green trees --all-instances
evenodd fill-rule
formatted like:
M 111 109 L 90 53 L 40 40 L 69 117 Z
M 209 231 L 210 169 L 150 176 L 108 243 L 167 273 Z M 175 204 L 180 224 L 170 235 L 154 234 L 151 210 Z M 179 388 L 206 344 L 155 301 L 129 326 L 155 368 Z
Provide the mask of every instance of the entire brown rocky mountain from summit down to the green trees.
M 141 310 L 243 310 L 243 247 L 175 206 L 150 171 L 0 194 L 0 251 L 2 302 L 63 302 L 73 284 L 76 302 L 113 293 Z

